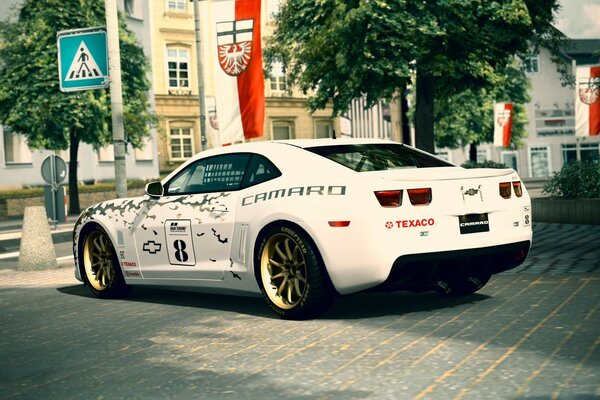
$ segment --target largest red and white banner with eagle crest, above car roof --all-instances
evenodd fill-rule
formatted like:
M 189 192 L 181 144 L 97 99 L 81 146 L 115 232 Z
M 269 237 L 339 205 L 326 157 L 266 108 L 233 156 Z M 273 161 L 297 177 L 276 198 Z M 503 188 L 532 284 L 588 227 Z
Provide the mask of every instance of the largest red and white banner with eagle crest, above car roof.
M 220 143 L 263 135 L 265 90 L 260 0 L 213 1 Z

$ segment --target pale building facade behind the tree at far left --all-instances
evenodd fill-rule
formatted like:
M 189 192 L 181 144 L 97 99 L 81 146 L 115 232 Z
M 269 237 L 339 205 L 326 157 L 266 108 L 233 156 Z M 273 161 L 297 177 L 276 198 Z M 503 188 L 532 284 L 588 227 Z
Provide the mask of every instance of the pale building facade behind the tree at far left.
M 13 17 L 21 1 L 3 1 L 0 8 L 0 19 Z M 151 29 L 148 2 L 144 0 L 119 0 L 119 10 L 125 13 L 129 29 L 135 34 L 151 58 Z M 85 28 L 85 27 L 82 27 Z M 58 71 L 57 71 L 58 79 Z M 150 93 L 151 107 L 154 106 L 152 91 Z M 136 150 L 131 146 L 127 149 L 126 168 L 129 179 L 148 180 L 157 178 L 158 161 L 157 133 L 153 129 L 143 149 Z M 78 178 L 84 182 L 111 180 L 115 177 L 114 153 L 112 145 L 94 150 L 91 145 L 81 143 L 78 152 Z M 45 184 L 40 172 L 43 160 L 50 154 L 60 155 L 66 162 L 69 151 L 32 150 L 28 147 L 26 138 L 9 127 L 0 125 L 0 189 L 21 188 Z M 67 179 L 65 179 L 67 181 Z

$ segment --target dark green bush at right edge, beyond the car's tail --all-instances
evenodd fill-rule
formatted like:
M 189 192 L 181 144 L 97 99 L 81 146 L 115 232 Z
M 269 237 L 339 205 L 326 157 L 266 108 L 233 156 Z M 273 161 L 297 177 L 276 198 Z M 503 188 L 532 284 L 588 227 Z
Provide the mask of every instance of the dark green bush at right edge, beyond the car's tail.
M 579 162 L 567 164 L 552 175 L 542 193 L 563 199 L 600 198 L 600 165 Z

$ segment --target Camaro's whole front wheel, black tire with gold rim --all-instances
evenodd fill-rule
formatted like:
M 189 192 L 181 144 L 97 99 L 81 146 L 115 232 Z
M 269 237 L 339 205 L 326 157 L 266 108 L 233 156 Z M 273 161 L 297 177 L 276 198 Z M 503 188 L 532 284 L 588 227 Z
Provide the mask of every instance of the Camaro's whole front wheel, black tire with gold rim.
M 96 225 L 81 236 L 78 260 L 85 285 L 101 299 L 129 296 L 131 286 L 125 284 L 117 253 L 106 231 Z

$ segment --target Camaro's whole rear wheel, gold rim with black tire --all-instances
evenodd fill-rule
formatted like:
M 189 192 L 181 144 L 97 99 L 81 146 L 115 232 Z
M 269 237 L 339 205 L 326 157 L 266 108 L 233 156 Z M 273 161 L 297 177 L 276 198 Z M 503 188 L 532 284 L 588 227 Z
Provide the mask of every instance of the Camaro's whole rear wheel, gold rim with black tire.
M 316 246 L 293 224 L 272 225 L 260 236 L 254 269 L 269 307 L 281 318 L 317 317 L 334 300 L 335 290 Z

